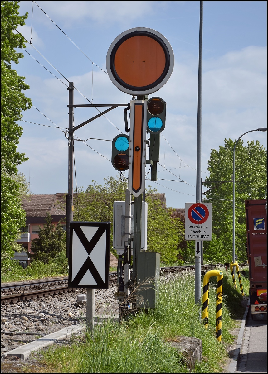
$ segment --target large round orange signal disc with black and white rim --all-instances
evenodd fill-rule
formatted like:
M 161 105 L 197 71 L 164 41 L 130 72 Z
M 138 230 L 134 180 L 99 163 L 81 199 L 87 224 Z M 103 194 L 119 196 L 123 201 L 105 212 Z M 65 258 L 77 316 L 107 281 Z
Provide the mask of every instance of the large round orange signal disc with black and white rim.
M 134 28 L 120 34 L 106 58 L 112 82 L 132 95 L 157 91 L 171 76 L 173 66 L 173 50 L 167 39 L 149 28 Z

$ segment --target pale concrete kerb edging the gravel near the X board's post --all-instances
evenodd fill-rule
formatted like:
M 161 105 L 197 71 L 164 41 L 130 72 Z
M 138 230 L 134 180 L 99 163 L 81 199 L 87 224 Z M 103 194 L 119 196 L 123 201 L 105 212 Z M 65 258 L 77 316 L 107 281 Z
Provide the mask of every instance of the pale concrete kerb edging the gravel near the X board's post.
M 114 321 L 118 321 L 118 315 L 101 315 L 101 316 L 95 316 L 95 324 L 101 323 L 107 318 L 112 317 Z M 26 357 L 28 357 L 32 352 L 37 351 L 41 348 L 44 348 L 48 345 L 56 343 L 58 340 L 63 340 L 68 337 L 70 337 L 73 334 L 78 333 L 82 330 L 82 328 L 85 328 L 85 324 L 82 325 L 73 325 L 69 326 L 67 328 L 61 329 L 59 331 L 53 332 L 52 334 L 43 336 L 42 338 L 39 338 L 37 340 L 31 341 L 30 343 L 27 343 L 21 347 L 12 349 L 9 352 L 2 353 L 2 357 L 6 358 L 7 356 L 16 356 L 18 358 L 21 358 L 22 360 L 25 360 Z

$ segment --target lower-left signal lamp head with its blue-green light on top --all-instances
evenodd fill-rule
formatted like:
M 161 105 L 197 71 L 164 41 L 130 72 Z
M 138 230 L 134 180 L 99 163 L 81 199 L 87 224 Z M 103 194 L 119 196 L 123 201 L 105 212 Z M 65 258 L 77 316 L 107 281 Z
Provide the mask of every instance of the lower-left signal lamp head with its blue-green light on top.
M 112 165 L 116 170 L 128 169 L 128 155 L 130 149 L 130 137 L 128 135 L 116 135 L 112 141 Z

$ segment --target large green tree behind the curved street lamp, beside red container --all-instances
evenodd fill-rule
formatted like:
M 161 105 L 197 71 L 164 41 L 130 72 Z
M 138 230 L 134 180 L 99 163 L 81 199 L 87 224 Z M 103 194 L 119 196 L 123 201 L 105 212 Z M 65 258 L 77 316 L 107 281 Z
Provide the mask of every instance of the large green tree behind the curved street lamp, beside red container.
M 206 187 L 215 187 L 217 183 L 213 181 L 232 181 L 234 144 L 235 141 L 225 139 L 224 147 L 211 151 Z M 232 186 L 232 182 L 222 183 L 206 194 L 212 202 L 213 235 L 211 242 L 204 242 L 204 260 L 232 261 Z M 247 260 L 245 200 L 264 199 L 266 188 L 265 148 L 258 141 L 243 146 L 240 140 L 235 148 L 235 253 L 240 262 Z

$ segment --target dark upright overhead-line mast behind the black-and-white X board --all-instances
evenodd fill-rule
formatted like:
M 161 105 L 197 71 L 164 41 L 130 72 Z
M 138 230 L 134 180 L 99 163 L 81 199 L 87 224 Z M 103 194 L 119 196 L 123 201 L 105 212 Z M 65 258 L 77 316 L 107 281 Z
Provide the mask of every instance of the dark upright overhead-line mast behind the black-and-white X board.
M 66 195 L 66 257 L 69 258 L 70 222 L 73 221 L 73 82 L 69 82 L 68 194 Z

